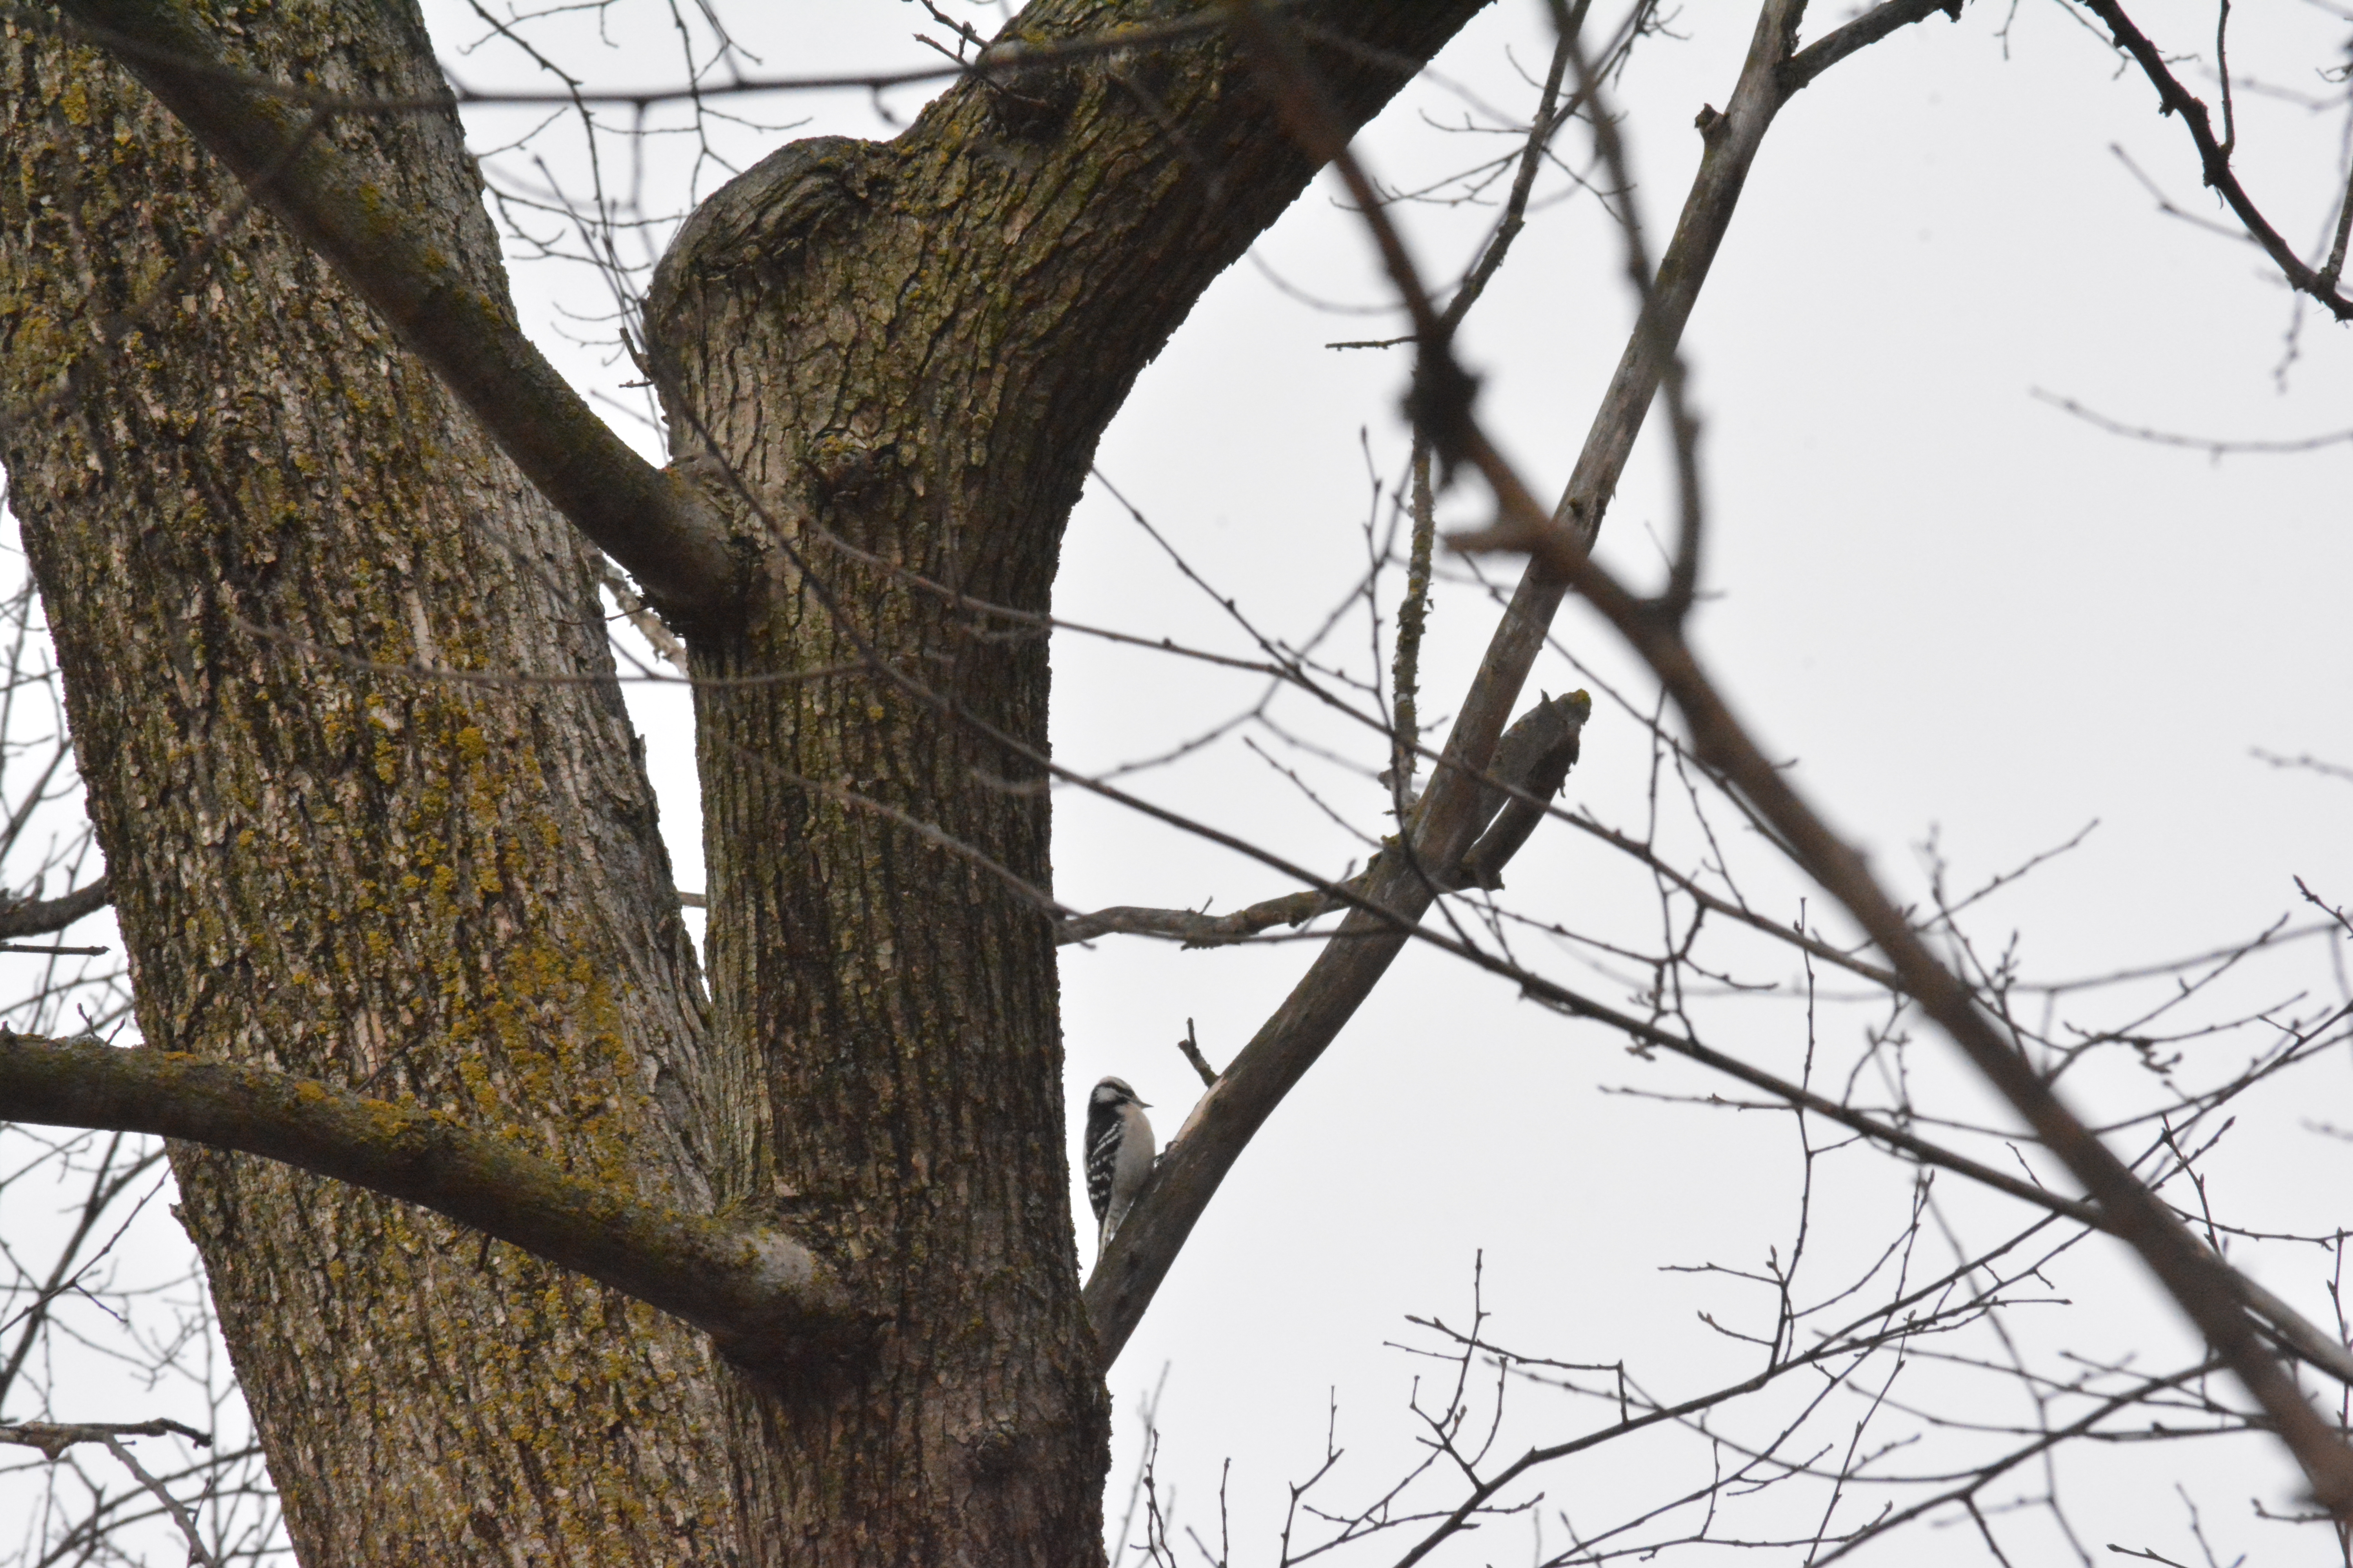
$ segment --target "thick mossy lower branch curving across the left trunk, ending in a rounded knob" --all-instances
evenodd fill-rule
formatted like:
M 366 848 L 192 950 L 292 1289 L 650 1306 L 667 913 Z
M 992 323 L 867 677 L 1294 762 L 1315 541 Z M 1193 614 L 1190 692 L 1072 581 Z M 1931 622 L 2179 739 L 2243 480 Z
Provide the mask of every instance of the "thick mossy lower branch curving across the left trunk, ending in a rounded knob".
M 186 1138 L 421 1204 L 661 1307 L 755 1371 L 791 1373 L 856 1321 L 833 1272 L 776 1229 L 661 1208 L 447 1112 L 315 1079 L 0 1034 L 0 1121 Z

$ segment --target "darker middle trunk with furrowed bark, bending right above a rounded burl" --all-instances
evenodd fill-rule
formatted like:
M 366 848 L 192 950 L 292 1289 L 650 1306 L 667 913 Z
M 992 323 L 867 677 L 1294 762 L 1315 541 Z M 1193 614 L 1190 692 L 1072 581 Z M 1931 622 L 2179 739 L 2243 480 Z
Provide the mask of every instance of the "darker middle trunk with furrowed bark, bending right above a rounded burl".
M 1028 42 L 1195 7 L 1047 2 Z M 1475 0 L 1311 12 L 1351 122 Z M 887 1328 L 821 1403 L 732 1387 L 758 1559 L 1101 1561 L 1106 1396 L 1066 1206 L 1047 917 L 932 823 L 1052 884 L 1038 637 L 896 569 L 1047 609 L 1106 421 L 1191 303 L 1306 186 L 1224 35 L 967 82 L 892 143 L 791 146 L 656 275 L 673 451 L 715 447 L 765 545 L 739 632 L 692 639 L 715 1030 L 774 1107 L 729 1192 L 882 1262 Z M 995 731 L 993 738 L 991 731 Z M 1009 741 L 1009 743 L 1007 743 Z M 871 804 L 866 804 L 871 802 Z M 856 1521 L 856 1523 L 852 1523 Z

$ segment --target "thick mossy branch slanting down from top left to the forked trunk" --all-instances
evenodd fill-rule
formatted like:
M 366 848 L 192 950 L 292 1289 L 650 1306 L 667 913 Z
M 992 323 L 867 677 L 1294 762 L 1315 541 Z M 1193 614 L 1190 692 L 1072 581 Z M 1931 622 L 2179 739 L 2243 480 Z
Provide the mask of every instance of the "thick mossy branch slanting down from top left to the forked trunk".
M 111 49 L 122 68 L 334 266 L 525 477 L 664 609 L 687 621 L 727 609 L 734 557 L 708 503 L 631 451 L 555 374 L 522 336 L 504 282 L 485 287 L 452 247 L 435 242 L 426 214 L 332 139 L 311 134 L 313 110 L 224 71 L 205 28 L 169 0 L 59 7 L 94 40 L 129 40 L 134 47 Z

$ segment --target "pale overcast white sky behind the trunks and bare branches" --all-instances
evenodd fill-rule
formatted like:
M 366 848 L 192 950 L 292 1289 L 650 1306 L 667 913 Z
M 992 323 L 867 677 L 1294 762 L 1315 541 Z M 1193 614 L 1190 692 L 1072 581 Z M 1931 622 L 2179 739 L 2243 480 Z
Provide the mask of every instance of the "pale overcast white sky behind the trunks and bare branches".
M 1812 35 L 1852 7 L 1817 9 L 1824 16 Z M 2202 5 L 2151 0 L 2141 9 L 2172 49 L 2212 42 Z M 428 12 L 445 59 L 468 85 L 522 80 L 496 47 L 464 49 L 480 24 L 461 5 Z M 974 7 L 984 26 L 991 14 Z M 1998 947 L 2017 931 L 2024 971 L 2042 980 L 2224 945 L 2280 914 L 2308 924 L 2315 912 L 2297 903 L 2299 875 L 2334 903 L 2353 903 L 2353 780 L 2254 757 L 2268 750 L 2353 766 L 2353 536 L 2344 501 L 2353 447 L 2217 461 L 2118 440 L 2035 397 L 2045 390 L 2134 425 L 2212 437 L 2320 435 L 2348 425 L 2353 353 L 2341 329 L 2306 313 L 2297 355 L 2282 364 L 2294 320 L 2287 292 L 2247 244 L 2158 209 L 2127 158 L 2186 212 L 2217 216 L 2179 125 L 2153 113 L 2146 82 L 2120 73 L 2078 16 L 2057 0 L 1981 0 L 1958 26 L 1932 19 L 1908 28 L 1805 92 L 1767 139 L 1685 339 L 1715 541 L 1704 651 L 1758 731 L 1798 764 L 1802 788 L 1906 898 L 1925 886 L 1915 846 L 1932 832 L 1953 882 L 1974 886 L 2097 820 L 2080 849 L 1981 910 L 1977 933 Z M 915 63 L 925 52 L 911 33 L 936 33 L 901 0 L 793 0 L 739 26 L 772 73 Z M 1751 26 L 1753 7 L 1704 0 L 1675 14 L 1680 38 L 1635 49 L 1619 106 L 1654 247 L 1699 155 L 1692 115 L 1729 94 Z M 2346 61 L 2341 14 L 2268 0 L 2242 5 L 2233 28 L 2240 71 L 2341 103 L 2341 85 L 2315 75 Z M 673 80 L 661 7 L 624 5 L 609 31 L 614 47 L 584 35 L 567 66 L 600 82 Z M 1360 148 L 1393 186 L 1504 150 L 1494 134 L 1442 127 L 1466 118 L 1492 127 L 1487 108 L 1525 115 L 1534 92 L 1513 61 L 1541 73 L 1546 49 L 1541 7 L 1499 0 Z M 2184 71 L 2209 92 L 2195 63 Z M 889 94 L 880 108 L 904 120 L 920 96 Z M 746 113 L 769 122 L 807 115 L 788 132 L 795 136 L 887 134 L 864 94 Z M 515 125 L 482 115 L 475 146 L 499 146 Z M 2344 190 L 2339 136 L 2341 108 L 2313 113 L 2287 96 L 2240 94 L 2242 169 L 2297 242 L 2322 233 L 2332 195 Z M 741 167 L 779 139 L 744 129 L 729 150 Z M 558 160 L 562 143 L 546 146 Z M 689 200 L 685 146 L 654 148 L 649 209 Z M 1584 167 L 1574 136 L 1562 148 Z M 576 179 L 579 165 L 553 167 Z M 515 158 L 496 169 L 534 176 Z M 699 193 L 713 183 L 704 169 Z M 1558 494 L 1567 477 L 1631 320 L 1617 235 L 1591 195 L 1560 200 L 1565 190 L 1558 174 L 1546 181 L 1541 209 L 1461 343 L 1485 376 L 1482 414 L 1539 494 Z M 1412 207 L 1402 221 L 1426 268 L 1452 275 L 1489 216 L 1489 207 Z M 1146 371 L 1099 463 L 1207 583 L 1264 630 L 1301 639 L 1362 574 L 1365 522 L 1377 515 L 1367 475 L 1395 482 L 1402 468 L 1395 407 L 1407 360 L 1402 350 L 1325 348 L 1400 329 L 1362 230 L 1334 205 L 1332 186 L 1318 183 L 1254 259 L 1207 294 Z M 600 331 L 560 317 L 605 308 L 598 282 L 584 268 L 522 266 L 515 284 L 525 317 L 567 374 L 628 397 L 616 390 L 626 367 L 562 346 L 567 331 Z M 621 414 L 616 423 L 628 428 Z M 649 437 L 647 451 L 659 451 Z M 1464 487 L 1442 510 L 1478 522 L 1480 494 Z M 1654 574 L 1654 541 L 1671 515 L 1664 447 L 1652 433 L 1609 512 L 1602 555 L 1633 576 Z M 1377 527 L 1388 527 L 1386 512 Z M 1482 562 L 1480 571 L 1508 585 L 1513 567 Z M 1468 569 L 1452 562 L 1445 574 L 1424 677 L 1431 717 L 1454 708 L 1494 623 Z M 1384 588 L 1384 616 L 1393 592 Z M 1071 524 L 1056 611 L 1247 651 L 1101 489 Z M 1369 675 L 1362 614 L 1339 637 L 1332 656 Z M 1591 616 L 1572 607 L 1558 639 L 1638 705 L 1649 701 Z M 1054 656 L 1054 745 L 1082 769 L 1165 752 L 1259 696 L 1247 682 L 1202 677 L 1198 665 L 1066 635 Z M 1537 684 L 1560 691 L 1588 677 L 1553 658 Z M 1567 802 L 1638 827 L 1649 750 L 1640 726 L 1600 689 L 1595 696 Z M 701 886 L 685 701 L 645 689 L 633 689 L 633 701 L 654 741 L 649 757 L 666 769 L 656 783 L 680 882 Z M 1384 795 L 1369 780 L 1386 762 L 1379 745 L 1301 703 L 1275 717 L 1344 759 L 1322 762 L 1287 750 L 1268 729 L 1247 731 L 1266 757 L 1297 769 L 1358 830 L 1381 832 Z M 1129 783 L 1329 872 L 1362 858 L 1362 844 L 1240 733 Z M 1732 842 L 1727 851 L 1758 867 L 1751 893 L 1760 905 L 1798 914 L 1805 889 L 1767 870 L 1760 844 Z M 1073 792 L 1056 797 L 1054 860 L 1056 896 L 1075 907 L 1198 907 L 1212 898 L 1235 907 L 1287 891 L 1261 865 Z M 1520 858 L 1508 898 L 1628 945 L 1659 938 L 1647 882 L 1560 825 L 1541 830 Z M 1840 931 L 1821 903 L 1812 900 L 1812 914 Z M 1626 999 L 1631 969 L 1593 969 L 1579 952 L 1529 940 L 1529 964 L 1605 1001 Z M 1788 954 L 1746 952 L 1741 978 L 1788 983 L 1795 973 Z M 1224 1063 L 1308 957 L 1297 943 L 1179 952 L 1141 938 L 1064 950 L 1073 1117 L 1087 1084 L 1115 1072 L 1160 1107 L 1162 1131 L 1174 1131 L 1198 1093 L 1172 1046 L 1186 1018 Z M 2252 1009 L 2297 992 L 2334 994 L 2339 976 L 2327 943 L 2308 940 L 2264 966 L 2233 1001 Z M 2087 1016 L 2108 1013 L 2092 1006 Z M 1711 1018 L 1744 1056 L 1798 1072 L 1800 1006 L 1744 1001 Z M 1826 1006 L 1824 1060 L 1849 1060 L 1868 1018 Z M 2000 1121 L 1944 1056 L 1944 1041 L 1922 1032 L 1913 1048 L 1920 1103 Z M 1384 1342 L 1412 1335 L 1405 1314 L 1466 1316 L 1480 1251 L 1492 1333 L 1515 1349 L 1626 1361 L 1668 1399 L 1751 1371 L 1755 1352 L 1713 1333 L 1697 1312 L 1753 1326 L 1767 1302 L 1720 1276 L 1664 1269 L 1711 1260 L 1755 1269 L 1767 1248 L 1788 1253 L 1800 1171 L 1793 1126 L 1617 1088 L 1687 1095 L 1729 1086 L 1631 1058 L 1593 1025 L 1565 1023 L 1515 1001 L 1504 983 L 1409 952 L 1235 1168 L 1113 1368 L 1113 1528 L 1136 1455 L 1139 1394 L 1162 1368 L 1162 1497 L 1174 1488 L 1179 1523 L 1214 1540 L 1219 1467 L 1231 1458 L 1235 1561 L 1273 1561 L 1285 1481 L 1306 1479 L 1322 1460 L 1332 1399 L 1348 1458 L 1327 1507 L 1377 1493 L 1412 1458 L 1405 1401 L 1412 1378 L 1428 1373 Z M 2144 1088 L 2132 1074 L 2075 1084 L 2104 1114 L 2144 1105 Z M 2214 1201 L 2273 1229 L 2344 1225 L 2353 1147 L 2313 1131 L 2320 1121 L 2353 1124 L 2344 1060 L 2306 1067 L 2287 1091 L 2242 1112 L 2235 1143 L 2214 1157 Z M 2024 1220 L 2007 1199 L 1951 1197 L 1953 1222 L 1979 1244 Z M 1817 1168 L 1817 1293 L 1845 1284 L 1840 1269 L 1852 1274 L 1857 1258 L 1885 1244 L 1908 1199 L 1906 1168 L 1878 1154 L 1847 1150 Z M 1078 1194 L 1073 1204 L 1085 1208 Z M 1937 1251 L 1932 1262 L 1946 1262 L 1941 1241 L 1922 1246 Z M 1092 1229 L 1082 1255 L 1092 1255 Z M 2235 1255 L 2327 1321 L 2325 1253 Z M 2031 1333 L 2047 1345 L 2094 1359 L 2137 1354 L 2146 1366 L 2186 1347 L 2118 1253 L 2082 1248 L 2054 1274 L 2049 1295 L 2073 1307 L 2035 1309 L 2042 1316 Z M 1602 1420 L 1593 1408 L 1527 1394 L 1513 1401 L 1504 1448 L 1558 1441 Z M 1838 1429 L 1857 1413 L 1840 1415 L 1847 1425 Z M 1887 1434 L 1901 1429 L 1897 1422 Z M 1605 1448 L 1548 1472 L 1544 1542 L 1565 1542 L 1555 1509 L 1593 1528 L 1664 1497 L 1685 1474 L 1675 1465 L 1694 1453 L 1692 1443 Z M 2127 1446 L 2071 1462 L 2061 1479 L 2078 1505 L 2080 1542 L 2094 1554 L 2120 1542 L 2195 1561 L 2177 1481 L 2202 1509 L 2221 1561 L 2238 1552 L 2318 1561 L 2322 1547 L 2254 1519 L 2249 1497 L 2266 1507 L 2292 1497 L 2287 1469 L 2252 1441 Z M 2009 1490 L 1993 1488 L 1988 1507 Z M 1748 1519 L 1751 1528 L 1765 1521 L 1800 1535 L 1814 1526 L 1769 1509 Z M 1998 1528 L 2017 1563 L 2071 1556 L 2045 1514 L 2024 1512 Z M 1525 1561 L 1532 1530 L 1525 1516 L 1497 1523 L 1435 1561 Z M 1398 1549 L 1374 1544 L 1344 1561 L 1393 1561 Z M 1878 1559 L 1981 1561 L 1984 1547 L 1969 1530 L 1925 1530 L 1889 1542 Z

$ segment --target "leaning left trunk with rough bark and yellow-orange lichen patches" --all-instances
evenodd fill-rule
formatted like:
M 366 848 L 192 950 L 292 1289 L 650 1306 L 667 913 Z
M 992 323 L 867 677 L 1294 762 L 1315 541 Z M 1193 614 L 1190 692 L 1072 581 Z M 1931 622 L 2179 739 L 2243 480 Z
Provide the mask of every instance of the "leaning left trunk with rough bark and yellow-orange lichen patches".
M 205 16 L 273 75 L 433 85 L 400 5 Z M 325 134 L 504 299 L 449 118 Z M 609 670 L 572 531 L 261 214 L 101 341 L 240 190 L 96 54 L 5 28 L 0 174 L 0 456 L 148 1044 L 706 1208 L 741 1095 L 616 691 L 358 668 Z M 287 1166 L 174 1168 L 306 1563 L 734 1561 L 701 1335 Z

